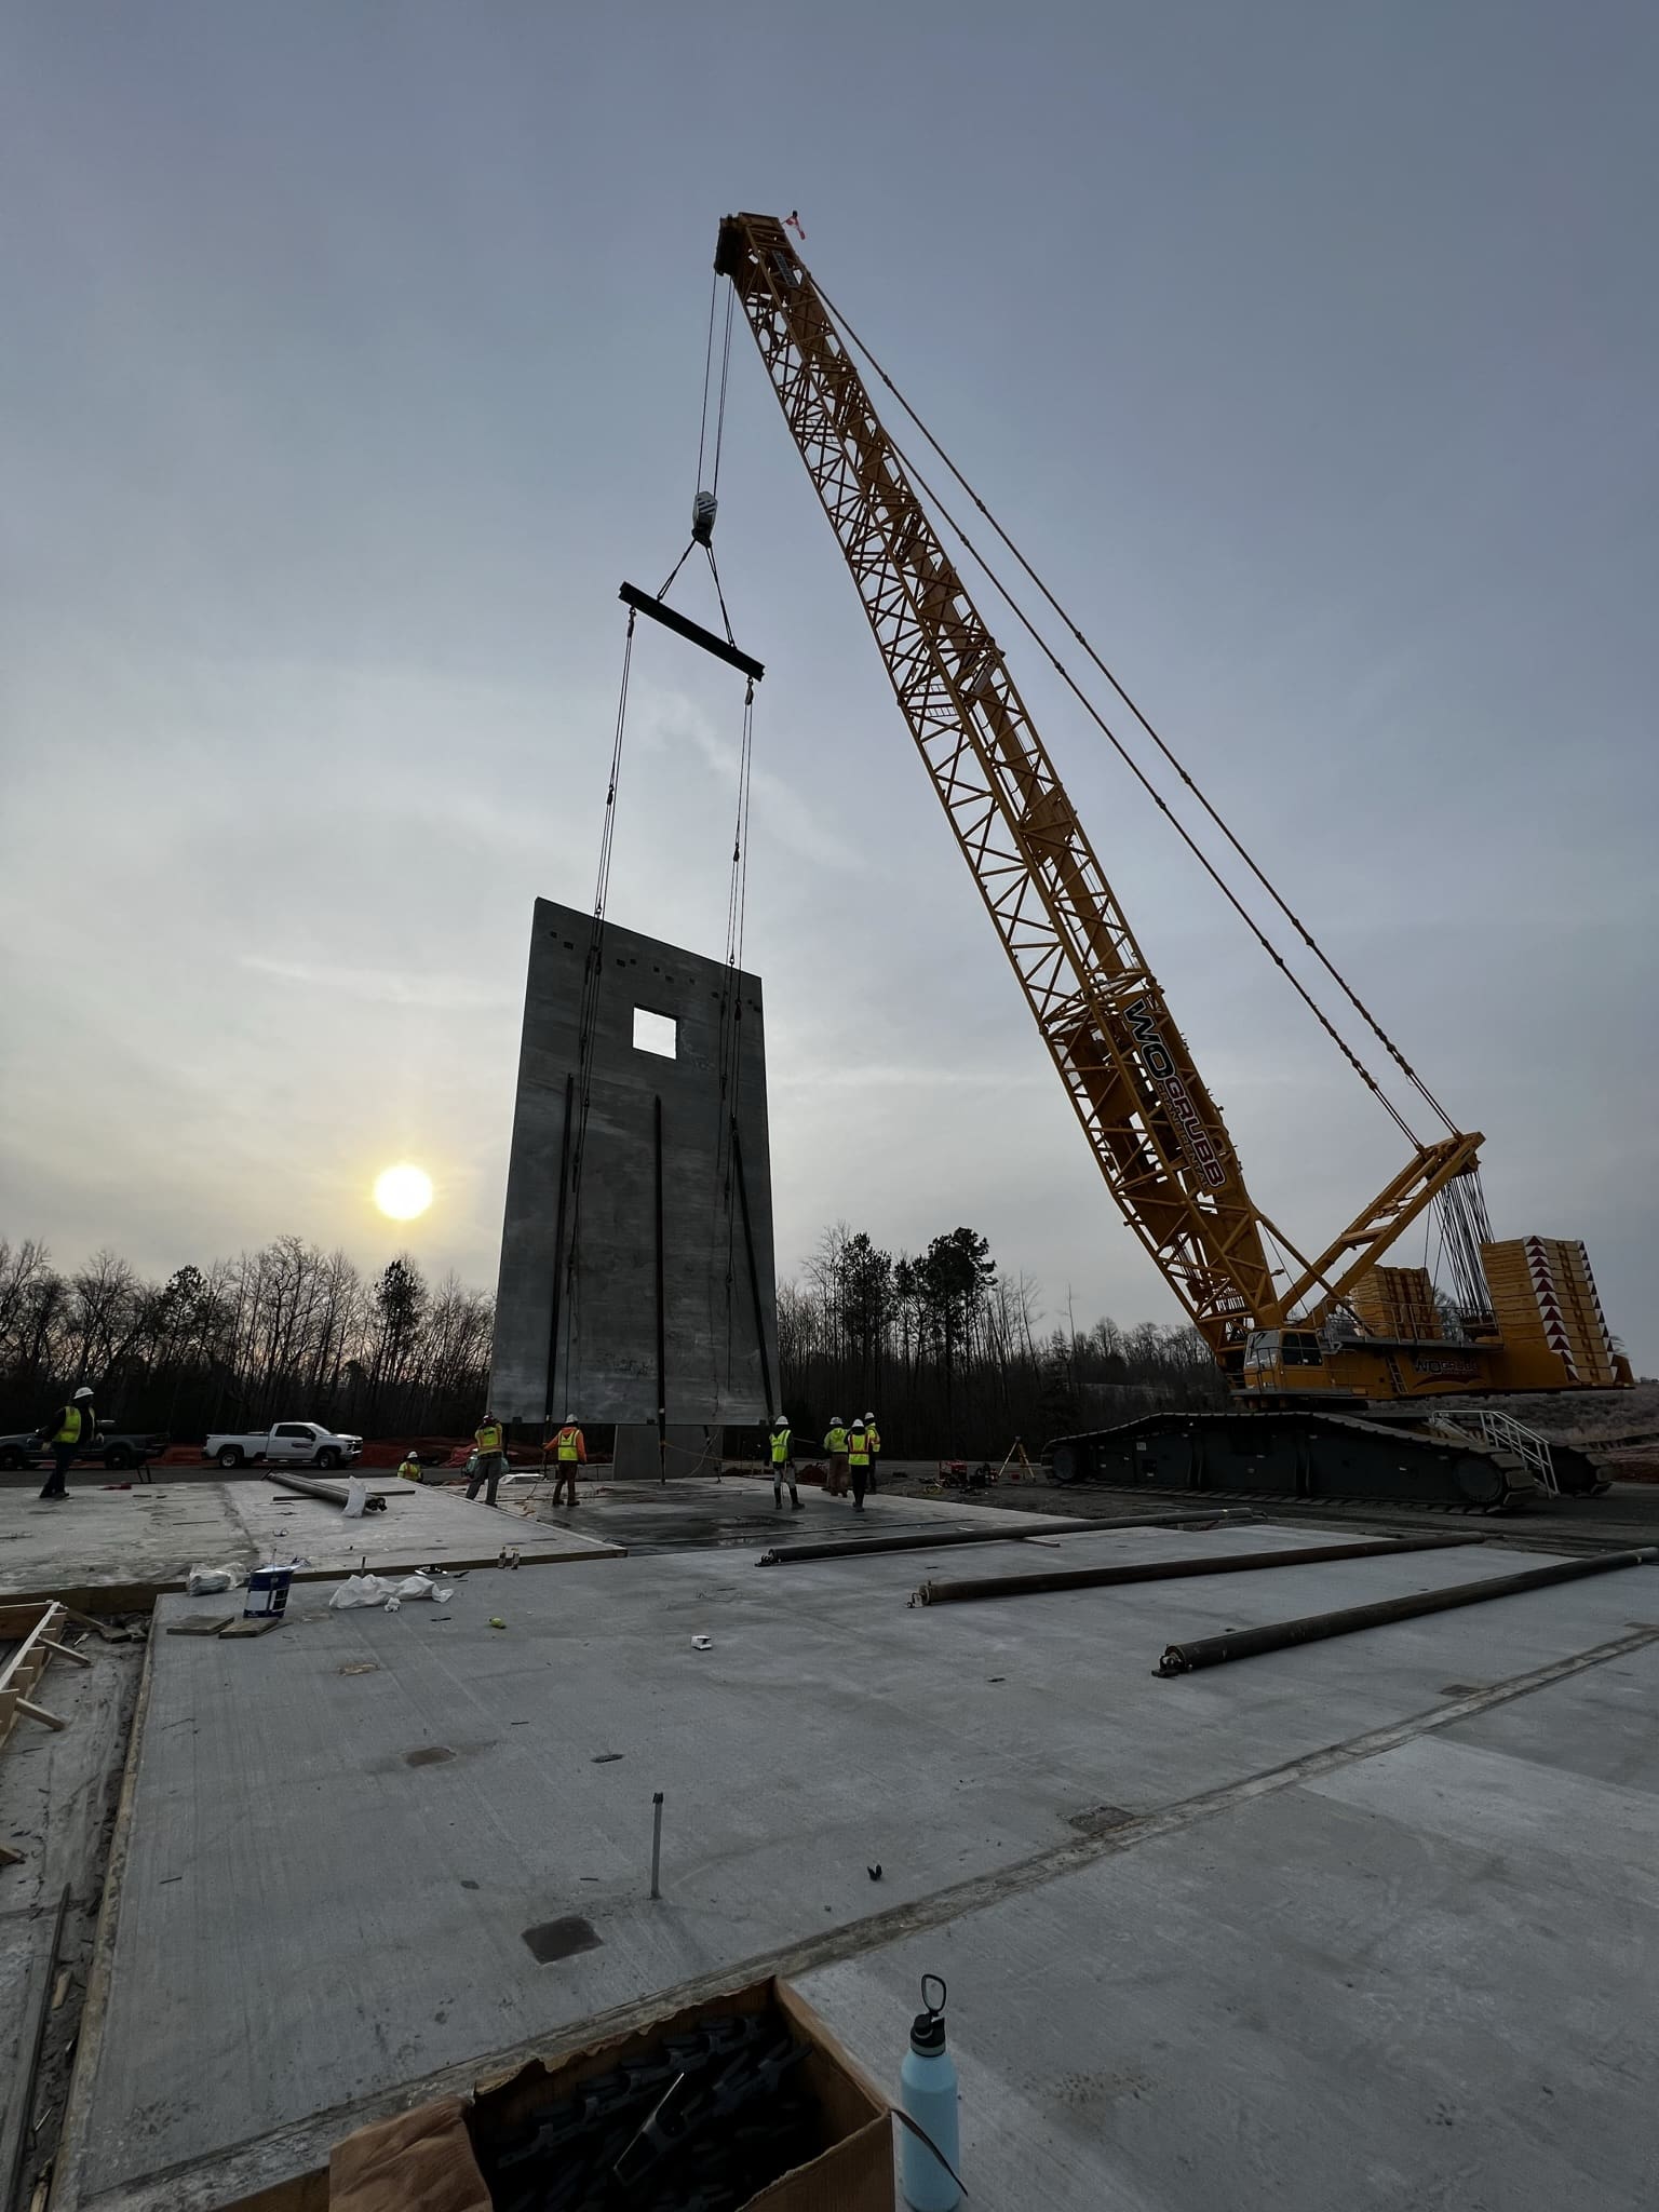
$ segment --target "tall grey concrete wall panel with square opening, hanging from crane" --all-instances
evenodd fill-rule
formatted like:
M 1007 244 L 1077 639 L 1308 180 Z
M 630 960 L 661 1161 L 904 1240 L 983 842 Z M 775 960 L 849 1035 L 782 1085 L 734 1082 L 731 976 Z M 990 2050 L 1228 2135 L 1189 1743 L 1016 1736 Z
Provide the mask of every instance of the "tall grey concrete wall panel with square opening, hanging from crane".
M 666 1418 L 765 1420 L 779 1369 L 761 978 L 606 922 L 584 1084 L 591 947 L 591 914 L 535 900 L 493 1411 L 655 1425 L 661 1314 Z

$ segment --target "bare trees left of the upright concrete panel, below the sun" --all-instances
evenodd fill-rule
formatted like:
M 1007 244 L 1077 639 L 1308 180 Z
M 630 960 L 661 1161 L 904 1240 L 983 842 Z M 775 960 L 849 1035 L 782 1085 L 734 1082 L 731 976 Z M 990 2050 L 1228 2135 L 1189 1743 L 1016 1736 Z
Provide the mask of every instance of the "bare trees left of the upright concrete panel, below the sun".
M 181 1442 L 323 1420 L 365 1436 L 467 1433 L 489 1387 L 493 1301 L 398 1254 L 365 1276 L 276 1237 L 146 1281 L 115 1252 L 64 1272 L 0 1239 L 0 1422 L 24 1429 L 91 1385 L 100 1420 Z

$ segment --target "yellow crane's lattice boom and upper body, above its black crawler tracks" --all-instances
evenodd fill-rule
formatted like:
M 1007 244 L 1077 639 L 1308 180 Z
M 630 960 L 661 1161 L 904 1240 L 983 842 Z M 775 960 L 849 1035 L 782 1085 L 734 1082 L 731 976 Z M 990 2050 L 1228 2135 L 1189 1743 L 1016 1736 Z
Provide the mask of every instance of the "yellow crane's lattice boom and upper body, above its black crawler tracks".
M 1099 1172 L 1232 1389 L 1263 1407 L 1307 1405 L 1310 1394 L 1329 1407 L 1363 1407 L 1628 1380 L 1599 1321 L 1582 1245 L 1524 1239 L 1511 1252 L 1491 1241 L 1478 1130 L 1449 1117 L 1440 1137 L 1407 1130 L 1411 1155 L 1400 1172 L 1314 1256 L 1256 1206 L 1221 1108 L 1004 655 L 785 226 L 728 215 L 714 272 L 730 279 L 894 697 Z M 1383 1267 L 1433 1206 L 1462 1259 L 1458 1281 L 1471 1290 L 1451 1340 L 1427 1281 L 1396 1281 L 1418 1270 Z M 1515 1283 L 1537 1287 L 1540 1272 L 1544 1303 L 1564 1316 L 1559 1340 L 1546 1312 L 1531 1327 L 1533 1316 L 1511 1296 Z M 1416 1336 L 1398 1327 L 1402 1312 Z

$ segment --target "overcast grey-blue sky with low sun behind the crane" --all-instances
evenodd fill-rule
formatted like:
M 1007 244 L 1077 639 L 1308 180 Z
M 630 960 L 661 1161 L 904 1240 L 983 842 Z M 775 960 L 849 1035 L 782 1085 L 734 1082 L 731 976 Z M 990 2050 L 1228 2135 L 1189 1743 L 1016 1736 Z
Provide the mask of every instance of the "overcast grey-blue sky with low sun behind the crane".
M 593 896 L 717 221 L 799 206 L 1486 1133 L 1500 1234 L 1584 1237 L 1652 1367 L 1655 113 L 1650 0 L 13 0 L 0 1234 L 493 1285 L 531 900 Z M 719 553 L 768 664 L 781 1270 L 827 1221 L 964 1221 L 1051 1316 L 1172 1318 L 741 323 Z M 1398 1135 L 1011 657 L 1256 1201 L 1323 1243 Z M 633 699 L 611 911 L 719 953 L 734 679 L 648 635 Z M 409 1232 L 394 1159 L 438 1183 Z

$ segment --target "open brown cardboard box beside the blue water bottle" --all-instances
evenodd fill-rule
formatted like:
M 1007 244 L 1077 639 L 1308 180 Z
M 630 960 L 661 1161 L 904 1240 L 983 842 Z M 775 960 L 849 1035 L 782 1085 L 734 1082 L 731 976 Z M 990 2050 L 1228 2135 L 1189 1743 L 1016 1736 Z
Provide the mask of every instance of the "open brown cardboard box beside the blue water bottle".
M 745 2212 L 894 2212 L 894 2139 L 887 2099 L 787 1982 L 752 1982 L 703 2004 L 664 2013 L 560 2059 L 531 2059 L 469 2099 L 440 2097 L 398 2119 L 361 2128 L 330 2159 L 330 2212 L 491 2212 L 473 2137 L 513 2132 L 584 2081 L 641 2057 L 726 2013 L 779 2011 L 807 2046 L 801 2077 L 823 2124 L 823 2148 L 752 2197 Z

